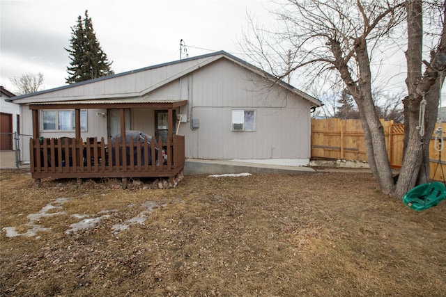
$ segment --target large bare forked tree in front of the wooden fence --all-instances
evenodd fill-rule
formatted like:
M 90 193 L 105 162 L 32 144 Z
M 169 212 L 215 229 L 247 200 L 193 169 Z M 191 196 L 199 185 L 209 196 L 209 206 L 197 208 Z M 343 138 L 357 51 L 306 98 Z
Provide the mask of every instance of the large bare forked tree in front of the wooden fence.
M 413 79 L 412 84 L 415 87 L 408 90 L 406 101 L 411 104 L 406 105 L 412 113 L 409 118 L 411 132 L 401 169 L 403 179 L 400 177 L 395 185 L 385 147 L 383 126 L 376 112 L 371 65 L 374 63 L 374 55 L 378 55 L 378 60 L 382 58 L 379 56 L 379 49 L 401 40 L 393 38 L 394 33 L 397 33 L 399 26 L 405 24 L 403 21 L 406 20 L 406 8 L 409 11 L 412 2 L 421 3 L 421 0 L 407 0 L 407 3 L 403 0 L 289 0 L 279 10 L 272 12 L 280 21 L 279 28 L 268 31 L 257 26 L 251 18 L 249 33 L 245 34 L 243 40 L 245 53 L 256 56 L 259 65 L 263 65 L 265 70 L 275 74 L 278 79 L 295 70 L 299 70 L 300 77 L 312 78 L 312 81 L 306 81 L 306 84 L 314 83 L 318 78 L 325 76 L 339 77 L 360 111 L 367 159 L 374 177 L 383 193 L 397 197 L 401 197 L 415 184 L 415 179 L 410 178 L 410 175 L 415 172 L 416 176 L 420 168 L 421 158 L 417 156 L 420 135 L 415 134 L 412 129 L 416 126 L 415 118 L 418 118 L 419 114 L 422 97 L 420 94 L 429 93 L 429 96 L 432 96 L 431 104 L 438 104 L 439 73 L 446 65 L 446 61 L 442 64 L 436 58 L 440 53 L 445 53 L 442 22 L 443 27 L 440 30 L 430 31 L 432 37 L 438 38 L 438 42 L 431 48 L 431 61 L 424 63 L 424 76 Z M 442 13 L 438 19 L 443 21 L 444 3 L 443 6 L 437 7 Z M 422 17 L 422 10 L 417 13 Z M 419 33 L 414 35 L 413 42 L 417 40 L 422 43 L 422 26 L 415 29 L 413 21 L 409 18 L 407 20 L 409 35 L 412 27 Z M 434 33 L 439 34 L 434 36 Z M 410 44 L 410 41 L 408 43 Z M 288 62 L 289 56 L 292 57 L 291 63 Z M 409 54 L 408 58 L 411 57 L 412 54 Z M 283 61 L 287 63 L 284 64 Z M 410 63 L 418 63 L 421 70 L 421 55 L 416 55 L 414 62 Z M 410 72 L 408 66 L 408 73 Z M 405 122 L 407 123 L 407 120 Z M 433 126 L 430 122 L 427 124 L 426 135 L 430 135 Z M 425 147 L 424 152 L 426 151 Z

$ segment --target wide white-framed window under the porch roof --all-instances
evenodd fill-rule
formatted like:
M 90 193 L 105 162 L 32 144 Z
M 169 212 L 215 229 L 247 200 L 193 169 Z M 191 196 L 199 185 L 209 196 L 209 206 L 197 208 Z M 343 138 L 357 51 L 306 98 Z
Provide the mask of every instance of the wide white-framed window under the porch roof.
M 76 127 L 73 110 L 42 111 L 42 118 L 44 131 L 72 131 Z M 81 110 L 81 130 L 86 131 L 86 109 Z

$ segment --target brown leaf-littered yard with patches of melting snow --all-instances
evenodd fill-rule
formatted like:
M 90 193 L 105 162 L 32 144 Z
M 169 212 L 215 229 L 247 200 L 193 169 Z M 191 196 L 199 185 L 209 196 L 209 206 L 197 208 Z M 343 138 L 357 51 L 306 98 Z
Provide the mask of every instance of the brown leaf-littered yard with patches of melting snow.
M 446 201 L 413 211 L 369 173 L 0 177 L 1 296 L 446 296 Z

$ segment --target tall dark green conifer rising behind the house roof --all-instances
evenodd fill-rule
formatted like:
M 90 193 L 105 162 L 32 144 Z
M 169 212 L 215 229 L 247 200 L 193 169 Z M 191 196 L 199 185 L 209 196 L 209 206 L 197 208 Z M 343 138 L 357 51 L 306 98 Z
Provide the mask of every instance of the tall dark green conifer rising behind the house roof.
M 66 51 L 71 60 L 70 66 L 67 67 L 67 83 L 114 74 L 110 67 L 113 62 L 108 60 L 107 54 L 100 47 L 88 10 L 85 10 L 85 18 L 82 19 L 79 15 L 77 24 L 71 28 L 70 49 Z

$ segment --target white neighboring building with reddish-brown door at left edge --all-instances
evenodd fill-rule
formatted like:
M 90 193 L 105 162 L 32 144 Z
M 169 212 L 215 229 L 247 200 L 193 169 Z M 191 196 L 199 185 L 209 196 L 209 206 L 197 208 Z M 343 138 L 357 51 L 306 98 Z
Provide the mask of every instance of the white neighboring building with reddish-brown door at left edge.
M 0 167 L 15 168 L 16 158 L 14 133 L 20 131 L 20 106 L 11 102 L 13 93 L 0 86 Z M 16 137 L 17 138 L 17 137 Z

